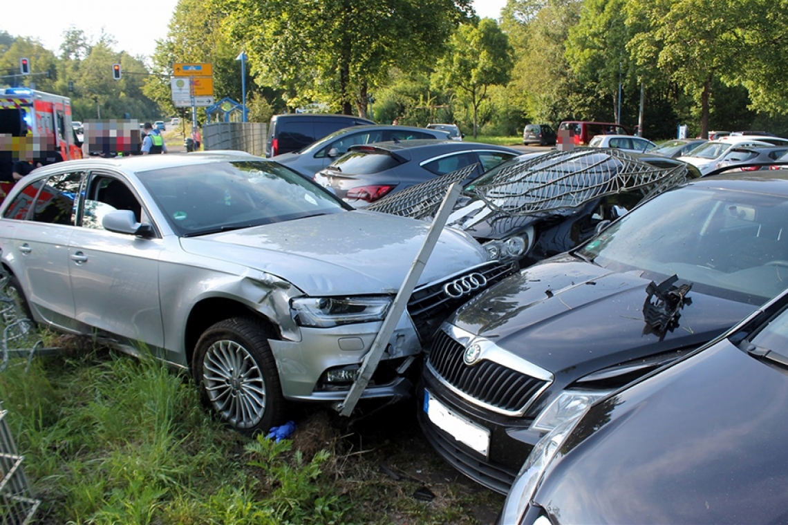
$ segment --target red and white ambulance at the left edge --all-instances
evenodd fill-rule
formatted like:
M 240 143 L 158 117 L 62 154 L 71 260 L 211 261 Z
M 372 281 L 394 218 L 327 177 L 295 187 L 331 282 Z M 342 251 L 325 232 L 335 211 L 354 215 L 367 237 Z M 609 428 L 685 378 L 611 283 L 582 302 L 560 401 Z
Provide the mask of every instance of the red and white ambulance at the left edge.
M 82 158 L 71 125 L 71 100 L 28 87 L 0 87 L 0 189 L 13 186 L 9 170 L 32 139 L 46 139 L 63 160 Z

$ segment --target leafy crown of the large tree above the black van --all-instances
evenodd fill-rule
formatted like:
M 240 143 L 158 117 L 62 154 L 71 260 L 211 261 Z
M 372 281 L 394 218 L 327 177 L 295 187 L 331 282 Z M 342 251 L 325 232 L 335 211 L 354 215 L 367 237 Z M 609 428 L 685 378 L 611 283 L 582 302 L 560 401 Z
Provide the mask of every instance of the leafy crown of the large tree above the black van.
M 224 0 L 225 28 L 243 45 L 258 83 L 280 88 L 290 108 L 325 102 L 366 116 L 370 91 L 392 67 L 429 64 L 470 0 Z

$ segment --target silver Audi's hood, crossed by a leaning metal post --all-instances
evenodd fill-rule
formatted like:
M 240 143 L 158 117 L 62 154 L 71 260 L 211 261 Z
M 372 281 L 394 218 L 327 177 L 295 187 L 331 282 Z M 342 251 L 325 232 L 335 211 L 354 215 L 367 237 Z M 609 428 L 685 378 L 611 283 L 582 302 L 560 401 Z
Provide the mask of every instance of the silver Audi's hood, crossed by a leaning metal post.
M 181 238 L 184 251 L 281 277 L 309 295 L 396 293 L 429 223 L 353 211 Z M 444 228 L 419 283 L 431 283 L 487 260 L 481 245 Z

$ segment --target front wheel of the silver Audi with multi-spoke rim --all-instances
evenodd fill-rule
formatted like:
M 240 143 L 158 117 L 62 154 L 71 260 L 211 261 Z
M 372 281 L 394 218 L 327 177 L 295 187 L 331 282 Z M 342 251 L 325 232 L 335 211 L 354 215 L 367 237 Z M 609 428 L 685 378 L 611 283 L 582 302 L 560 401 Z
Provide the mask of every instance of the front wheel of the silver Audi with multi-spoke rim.
M 203 404 L 242 434 L 282 422 L 285 401 L 268 336 L 261 321 L 234 317 L 204 331 L 195 348 L 193 375 Z

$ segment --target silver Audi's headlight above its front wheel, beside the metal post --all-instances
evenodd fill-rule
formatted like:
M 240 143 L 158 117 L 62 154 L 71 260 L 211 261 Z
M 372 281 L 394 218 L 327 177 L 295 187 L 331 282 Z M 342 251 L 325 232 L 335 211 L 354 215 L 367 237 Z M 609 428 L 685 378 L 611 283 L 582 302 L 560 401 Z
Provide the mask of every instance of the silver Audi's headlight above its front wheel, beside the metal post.
M 381 321 L 390 298 L 299 298 L 292 300 L 293 315 L 302 327 L 329 328 L 340 324 Z

